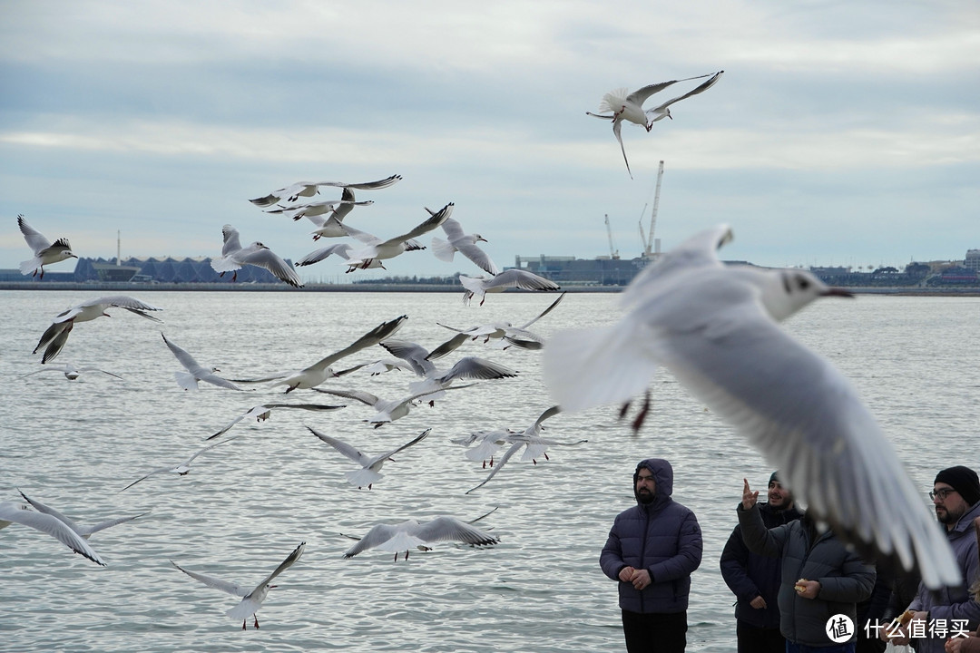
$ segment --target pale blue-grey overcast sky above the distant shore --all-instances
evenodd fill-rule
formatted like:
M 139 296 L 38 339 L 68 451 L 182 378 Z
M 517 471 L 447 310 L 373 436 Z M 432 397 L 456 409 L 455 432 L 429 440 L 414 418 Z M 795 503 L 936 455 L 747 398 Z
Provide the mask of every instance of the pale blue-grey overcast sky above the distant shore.
M 632 179 L 585 115 L 716 70 L 673 120 L 623 126 Z M 722 257 L 763 265 L 980 248 L 976 0 L 4 0 L 0 107 L 0 268 L 29 257 L 18 213 L 82 257 L 115 257 L 118 231 L 123 257 L 217 256 L 229 223 L 296 260 L 324 243 L 312 223 L 249 198 L 396 173 L 346 222 L 387 238 L 455 202 L 503 267 L 609 255 L 609 214 L 635 257 L 661 160 L 663 249 L 718 222 Z M 479 272 L 430 251 L 386 266 Z

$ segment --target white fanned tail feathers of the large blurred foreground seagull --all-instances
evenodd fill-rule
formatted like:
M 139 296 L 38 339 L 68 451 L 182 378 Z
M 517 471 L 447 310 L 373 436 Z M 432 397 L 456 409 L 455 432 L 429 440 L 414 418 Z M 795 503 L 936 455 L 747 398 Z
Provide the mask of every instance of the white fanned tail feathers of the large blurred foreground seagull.
M 542 350 L 542 371 L 552 399 L 573 412 L 622 403 L 643 392 L 657 371 L 657 362 L 640 346 L 644 339 L 634 333 L 643 328 L 635 320 L 623 320 L 552 336 Z

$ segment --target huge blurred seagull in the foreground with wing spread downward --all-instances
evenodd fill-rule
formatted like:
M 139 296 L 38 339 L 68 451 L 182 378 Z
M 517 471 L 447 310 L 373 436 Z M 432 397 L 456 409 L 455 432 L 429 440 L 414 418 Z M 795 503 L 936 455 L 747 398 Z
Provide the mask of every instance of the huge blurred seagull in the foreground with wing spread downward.
M 715 226 L 645 268 L 613 326 L 552 336 L 549 393 L 566 411 L 622 403 L 666 367 L 840 536 L 917 564 L 931 589 L 956 585 L 946 536 L 851 382 L 778 325 L 818 298 L 852 295 L 803 270 L 723 265 L 716 250 L 731 237 Z

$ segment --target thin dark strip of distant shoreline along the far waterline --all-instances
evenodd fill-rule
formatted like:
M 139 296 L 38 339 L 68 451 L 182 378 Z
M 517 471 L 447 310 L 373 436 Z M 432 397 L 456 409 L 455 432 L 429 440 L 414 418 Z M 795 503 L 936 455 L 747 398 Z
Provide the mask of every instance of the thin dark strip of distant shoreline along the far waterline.
M 626 286 L 563 286 L 566 293 L 619 293 Z M 292 288 L 286 284 L 262 283 L 74 283 L 21 281 L 0 283 L 0 290 L 38 291 L 111 291 L 145 293 L 147 291 L 177 292 L 238 292 L 238 293 L 464 293 L 462 286 L 441 284 L 307 284 Z M 856 295 L 895 295 L 901 297 L 980 297 L 980 288 L 907 288 L 903 286 L 853 287 L 847 290 Z M 506 292 L 527 293 L 509 289 Z

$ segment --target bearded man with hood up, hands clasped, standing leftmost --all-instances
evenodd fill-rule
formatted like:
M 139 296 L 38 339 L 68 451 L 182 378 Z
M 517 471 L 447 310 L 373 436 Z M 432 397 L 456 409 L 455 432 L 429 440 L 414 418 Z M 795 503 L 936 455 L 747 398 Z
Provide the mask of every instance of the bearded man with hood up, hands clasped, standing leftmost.
M 674 653 L 687 645 L 691 574 L 701 564 L 701 527 L 671 498 L 673 468 L 648 458 L 633 473 L 636 505 L 616 515 L 599 564 L 619 585 L 626 650 Z

